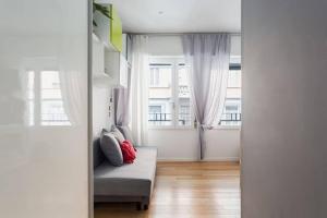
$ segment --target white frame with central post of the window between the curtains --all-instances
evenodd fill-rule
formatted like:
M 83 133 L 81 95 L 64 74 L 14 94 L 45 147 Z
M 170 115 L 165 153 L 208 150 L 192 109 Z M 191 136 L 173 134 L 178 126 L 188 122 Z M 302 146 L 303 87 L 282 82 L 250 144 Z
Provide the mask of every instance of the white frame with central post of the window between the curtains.
M 152 125 L 148 123 L 149 130 L 193 130 L 194 126 L 194 110 L 192 102 L 190 102 L 190 116 L 191 116 L 191 124 L 190 125 L 179 125 L 179 108 L 180 108 L 180 100 L 179 100 L 179 69 L 181 65 L 185 64 L 185 59 L 183 56 L 150 56 L 149 57 L 149 65 L 171 65 L 172 66 L 172 75 L 171 75 L 171 118 L 172 124 L 171 125 Z M 148 86 L 152 88 L 153 86 Z M 160 87 L 159 87 L 160 88 Z M 191 101 L 190 97 L 190 101 Z

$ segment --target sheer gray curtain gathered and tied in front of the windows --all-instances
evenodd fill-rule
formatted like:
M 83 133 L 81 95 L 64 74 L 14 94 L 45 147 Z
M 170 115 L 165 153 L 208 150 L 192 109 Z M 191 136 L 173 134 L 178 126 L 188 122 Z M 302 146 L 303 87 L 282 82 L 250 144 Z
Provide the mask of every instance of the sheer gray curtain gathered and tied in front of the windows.
M 183 36 L 186 68 L 195 117 L 198 122 L 199 159 L 204 157 L 205 131 L 218 125 L 223 111 L 230 59 L 229 34 Z

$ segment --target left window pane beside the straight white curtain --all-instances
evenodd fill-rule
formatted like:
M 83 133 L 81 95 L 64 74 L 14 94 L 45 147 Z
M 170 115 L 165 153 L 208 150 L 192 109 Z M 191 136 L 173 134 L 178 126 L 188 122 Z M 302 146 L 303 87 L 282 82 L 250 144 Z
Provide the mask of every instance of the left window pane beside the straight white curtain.
M 148 121 L 150 125 L 172 125 L 172 65 L 153 64 L 149 76 Z

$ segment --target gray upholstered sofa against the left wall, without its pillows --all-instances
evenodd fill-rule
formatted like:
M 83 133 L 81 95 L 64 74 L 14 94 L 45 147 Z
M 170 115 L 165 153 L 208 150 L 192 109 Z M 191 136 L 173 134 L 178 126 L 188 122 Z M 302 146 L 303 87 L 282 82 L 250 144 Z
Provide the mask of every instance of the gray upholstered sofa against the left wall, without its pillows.
M 104 156 L 99 140 L 94 142 L 94 201 L 135 202 L 138 209 L 147 209 L 155 183 L 157 149 L 136 147 L 133 164 L 112 166 Z

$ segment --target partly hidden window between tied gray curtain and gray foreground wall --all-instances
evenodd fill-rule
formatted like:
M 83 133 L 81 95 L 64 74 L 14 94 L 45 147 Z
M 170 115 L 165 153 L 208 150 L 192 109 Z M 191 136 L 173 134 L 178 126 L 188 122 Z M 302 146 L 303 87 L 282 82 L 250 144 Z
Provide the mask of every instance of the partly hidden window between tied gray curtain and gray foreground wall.
M 241 61 L 239 57 L 232 57 L 228 76 L 228 86 L 223 113 L 220 125 L 241 125 Z

